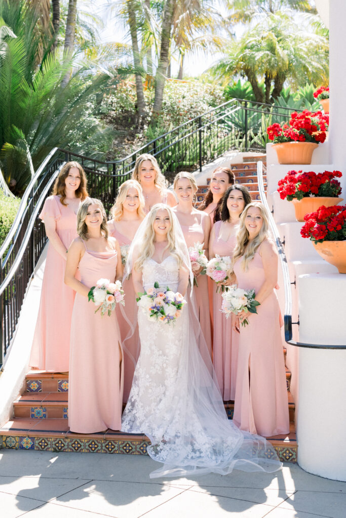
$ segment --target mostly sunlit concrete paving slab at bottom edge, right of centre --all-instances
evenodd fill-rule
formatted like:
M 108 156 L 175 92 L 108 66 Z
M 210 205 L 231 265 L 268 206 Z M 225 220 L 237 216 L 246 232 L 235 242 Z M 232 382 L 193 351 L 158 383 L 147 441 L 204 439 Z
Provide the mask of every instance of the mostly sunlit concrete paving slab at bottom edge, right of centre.
M 148 512 L 145 518 L 262 518 L 272 509 L 261 503 L 185 491 Z

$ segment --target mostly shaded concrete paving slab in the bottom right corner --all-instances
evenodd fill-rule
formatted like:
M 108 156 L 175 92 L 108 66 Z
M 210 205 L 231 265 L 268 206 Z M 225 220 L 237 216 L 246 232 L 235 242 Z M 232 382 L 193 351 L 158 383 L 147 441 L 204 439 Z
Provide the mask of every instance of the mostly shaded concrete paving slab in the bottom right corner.
M 320 491 L 297 491 L 281 505 L 283 509 L 311 512 L 330 518 L 345 518 L 346 495 Z

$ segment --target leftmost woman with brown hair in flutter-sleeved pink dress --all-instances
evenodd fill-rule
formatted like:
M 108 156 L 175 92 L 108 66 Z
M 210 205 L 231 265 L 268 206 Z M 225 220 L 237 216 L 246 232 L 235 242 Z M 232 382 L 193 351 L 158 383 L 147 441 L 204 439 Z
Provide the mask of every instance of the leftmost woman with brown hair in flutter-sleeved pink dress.
M 49 245 L 29 365 L 40 370 L 68 371 L 75 292 L 64 284 L 66 252 L 77 237 L 76 214 L 87 196 L 84 170 L 78 162 L 67 162 L 39 214 Z

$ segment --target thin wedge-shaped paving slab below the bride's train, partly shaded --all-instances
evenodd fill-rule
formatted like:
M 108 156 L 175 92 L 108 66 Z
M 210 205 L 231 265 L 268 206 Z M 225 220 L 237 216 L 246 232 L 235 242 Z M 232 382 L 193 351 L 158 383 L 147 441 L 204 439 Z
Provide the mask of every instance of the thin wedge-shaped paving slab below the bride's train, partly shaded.
M 268 506 L 279 506 L 288 496 L 293 494 L 277 489 L 255 489 L 248 487 L 213 487 L 213 486 L 192 486 L 189 491 L 204 493 L 206 495 L 224 496 L 237 500 L 244 500 L 253 503 L 266 503 Z

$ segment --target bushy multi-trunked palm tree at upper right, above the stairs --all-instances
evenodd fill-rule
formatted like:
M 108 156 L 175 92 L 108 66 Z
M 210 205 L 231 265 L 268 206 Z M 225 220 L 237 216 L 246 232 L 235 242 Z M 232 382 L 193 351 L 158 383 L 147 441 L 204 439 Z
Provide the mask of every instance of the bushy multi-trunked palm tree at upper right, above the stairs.
M 328 77 L 328 40 L 297 24 L 288 12 L 261 15 L 226 52 L 215 74 L 224 82 L 234 75 L 246 77 L 258 102 L 277 98 L 285 81 L 297 87 Z M 265 92 L 259 86 L 261 80 Z

